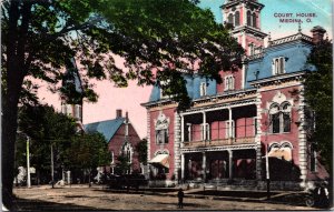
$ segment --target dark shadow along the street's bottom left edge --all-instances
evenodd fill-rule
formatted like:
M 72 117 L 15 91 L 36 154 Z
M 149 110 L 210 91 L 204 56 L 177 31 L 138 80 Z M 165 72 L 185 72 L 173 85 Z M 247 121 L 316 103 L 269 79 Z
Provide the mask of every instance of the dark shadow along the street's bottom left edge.
M 110 211 L 70 203 L 56 203 L 27 199 L 14 199 L 13 204 L 14 211 Z

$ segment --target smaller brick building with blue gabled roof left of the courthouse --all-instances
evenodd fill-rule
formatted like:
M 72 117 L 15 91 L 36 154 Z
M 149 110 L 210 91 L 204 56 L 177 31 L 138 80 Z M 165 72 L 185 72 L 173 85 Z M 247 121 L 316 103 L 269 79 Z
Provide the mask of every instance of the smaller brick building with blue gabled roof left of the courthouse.
M 120 174 L 115 168 L 119 162 L 117 159 L 121 154 L 127 157 L 130 163 L 130 169 L 127 173 L 141 172 L 143 169 L 136 151 L 136 145 L 140 142 L 140 138 L 130 123 L 127 112 L 126 117 L 122 117 L 121 110 L 116 110 L 116 119 L 114 120 L 85 124 L 85 132 L 100 132 L 106 138 L 111 153 L 110 168 L 107 168 L 107 172 Z

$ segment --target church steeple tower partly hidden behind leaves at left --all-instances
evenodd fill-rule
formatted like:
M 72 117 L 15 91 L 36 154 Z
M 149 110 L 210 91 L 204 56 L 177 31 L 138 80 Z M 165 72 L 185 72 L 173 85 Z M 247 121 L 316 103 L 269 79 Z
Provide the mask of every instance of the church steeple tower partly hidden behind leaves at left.
M 78 131 L 82 128 L 82 84 L 75 59 L 66 63 L 66 72 L 62 78 L 61 113 L 73 118 L 77 122 Z

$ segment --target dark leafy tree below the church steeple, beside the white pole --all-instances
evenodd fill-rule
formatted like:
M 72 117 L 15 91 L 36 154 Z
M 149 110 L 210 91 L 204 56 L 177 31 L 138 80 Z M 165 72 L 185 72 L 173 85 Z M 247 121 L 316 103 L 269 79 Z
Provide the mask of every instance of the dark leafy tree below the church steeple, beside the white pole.
M 16 154 L 16 165 L 26 166 L 26 135 L 30 138 L 30 164 L 37 170 L 38 181 L 49 182 L 51 145 L 53 147 L 55 169 L 61 169 L 66 164 L 68 155 L 65 153 L 70 147 L 71 137 L 76 133 L 76 122 L 73 119 L 57 113 L 49 105 L 23 105 L 19 110 L 19 129 L 23 137 L 18 139 Z M 21 147 L 21 148 L 20 148 Z M 22 148 L 23 147 L 23 148 Z M 43 179 L 43 180 L 42 180 Z

